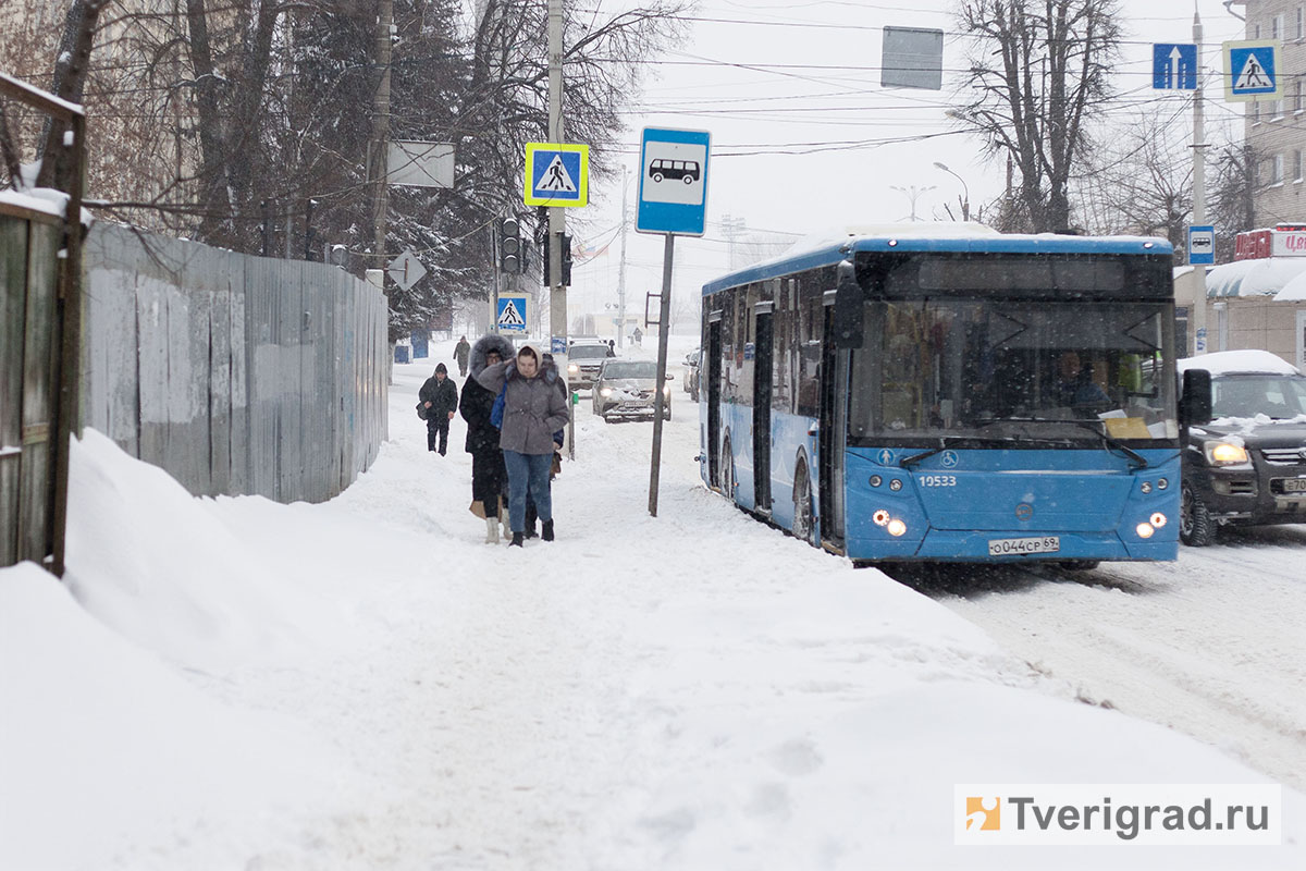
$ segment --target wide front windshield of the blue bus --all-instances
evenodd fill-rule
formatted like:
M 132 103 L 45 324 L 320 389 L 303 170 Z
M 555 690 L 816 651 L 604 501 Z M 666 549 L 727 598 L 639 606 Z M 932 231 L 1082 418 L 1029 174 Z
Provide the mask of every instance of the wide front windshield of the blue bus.
M 1171 317 L 1161 302 L 868 302 L 849 441 L 1175 439 Z

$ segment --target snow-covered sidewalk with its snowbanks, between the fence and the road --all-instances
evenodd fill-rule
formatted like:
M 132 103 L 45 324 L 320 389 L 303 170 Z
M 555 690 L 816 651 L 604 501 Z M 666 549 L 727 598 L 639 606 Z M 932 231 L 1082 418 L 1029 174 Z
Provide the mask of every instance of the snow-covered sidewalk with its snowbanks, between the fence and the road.
M 428 373 L 396 367 L 393 441 L 324 505 L 78 444 L 76 598 L 0 571 L 0 867 L 1306 866 L 1289 790 L 1284 847 L 953 846 L 955 784 L 1266 778 L 708 494 L 679 381 L 658 518 L 649 424 L 582 397 L 559 541 L 483 545 Z

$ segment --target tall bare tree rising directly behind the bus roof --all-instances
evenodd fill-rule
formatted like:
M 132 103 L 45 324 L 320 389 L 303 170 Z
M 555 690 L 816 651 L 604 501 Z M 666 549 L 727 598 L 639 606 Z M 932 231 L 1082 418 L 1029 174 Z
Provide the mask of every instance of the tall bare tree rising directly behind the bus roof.
M 959 25 L 976 43 L 955 116 L 991 155 L 1011 157 L 1029 230 L 1071 227 L 1070 180 L 1111 95 L 1118 13 L 1117 0 L 960 0 Z

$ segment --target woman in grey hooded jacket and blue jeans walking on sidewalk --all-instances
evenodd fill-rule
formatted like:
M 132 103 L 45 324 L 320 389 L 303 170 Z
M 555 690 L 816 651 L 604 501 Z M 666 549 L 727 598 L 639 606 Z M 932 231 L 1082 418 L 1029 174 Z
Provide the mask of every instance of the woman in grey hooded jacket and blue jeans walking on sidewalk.
M 567 426 L 567 405 L 558 389 L 558 371 L 541 366 L 539 353 L 522 346 L 517 356 L 487 366 L 477 376 L 495 396 L 504 392 L 499 447 L 508 469 L 508 524 L 512 543 L 521 547 L 526 528 L 526 496 L 539 512 L 539 537 L 554 541 L 554 505 L 549 492 L 549 469 L 554 457 L 554 434 Z

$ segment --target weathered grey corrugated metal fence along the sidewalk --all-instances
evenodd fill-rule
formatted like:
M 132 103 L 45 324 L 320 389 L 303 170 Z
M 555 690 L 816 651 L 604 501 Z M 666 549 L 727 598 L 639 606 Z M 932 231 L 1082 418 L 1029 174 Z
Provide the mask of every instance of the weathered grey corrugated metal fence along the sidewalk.
M 323 501 L 388 435 L 384 295 L 326 264 L 97 223 L 82 424 L 196 495 Z

